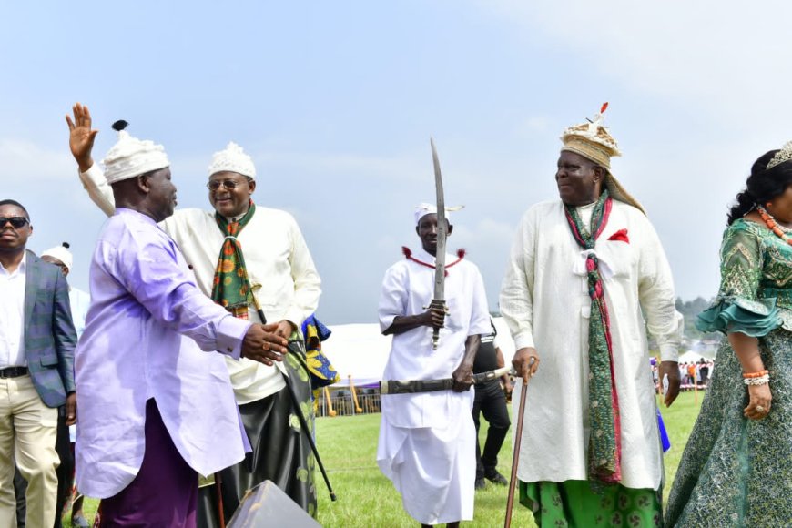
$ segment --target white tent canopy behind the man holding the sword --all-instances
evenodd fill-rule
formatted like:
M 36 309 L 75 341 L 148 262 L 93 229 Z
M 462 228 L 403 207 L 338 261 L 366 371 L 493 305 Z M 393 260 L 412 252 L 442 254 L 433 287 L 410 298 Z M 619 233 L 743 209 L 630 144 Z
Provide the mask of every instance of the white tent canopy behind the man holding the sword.
M 508 365 L 514 355 L 514 342 L 503 318 L 492 320 L 498 330 L 498 346 Z M 348 386 L 350 377 L 355 386 L 381 381 L 391 352 L 391 336 L 383 336 L 377 323 L 330 325 L 329 328 L 332 334 L 321 344 L 321 350 L 341 376 L 336 385 Z

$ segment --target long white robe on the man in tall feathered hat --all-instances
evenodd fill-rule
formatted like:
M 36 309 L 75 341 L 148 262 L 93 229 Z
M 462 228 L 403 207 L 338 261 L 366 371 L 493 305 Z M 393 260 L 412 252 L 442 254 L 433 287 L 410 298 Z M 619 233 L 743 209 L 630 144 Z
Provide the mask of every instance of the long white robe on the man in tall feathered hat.
M 608 240 L 621 229 L 627 230 L 628 242 Z M 663 465 L 645 328 L 655 336 L 662 360 L 676 360 L 682 316 L 675 310 L 671 270 L 648 218 L 620 201 L 614 200 L 594 250 L 605 276 L 613 339 L 621 483 L 656 490 Z M 500 297 L 516 348 L 535 347 L 541 361 L 528 383 L 517 472 L 523 482 L 587 478 L 591 300 L 584 259 L 560 200 L 537 204 L 525 213 Z M 519 401 L 519 385 L 513 405 Z

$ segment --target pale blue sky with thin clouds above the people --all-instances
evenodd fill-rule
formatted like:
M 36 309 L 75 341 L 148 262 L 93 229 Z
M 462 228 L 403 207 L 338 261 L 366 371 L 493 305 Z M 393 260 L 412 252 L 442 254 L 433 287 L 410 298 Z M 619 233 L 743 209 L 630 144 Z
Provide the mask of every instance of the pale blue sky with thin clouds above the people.
M 792 139 L 792 6 L 742 2 L 80 2 L 0 7 L 0 171 L 30 210 L 30 249 L 68 240 L 70 280 L 104 216 L 68 153 L 64 114 L 91 108 L 163 143 L 179 207 L 208 208 L 211 154 L 256 161 L 260 205 L 289 210 L 323 279 L 319 315 L 370 322 L 384 270 L 417 245 L 437 144 L 452 249 L 496 308 L 513 230 L 555 198 L 564 127 L 610 102 L 624 157 L 677 292 L 711 297 L 726 208 L 753 160 Z

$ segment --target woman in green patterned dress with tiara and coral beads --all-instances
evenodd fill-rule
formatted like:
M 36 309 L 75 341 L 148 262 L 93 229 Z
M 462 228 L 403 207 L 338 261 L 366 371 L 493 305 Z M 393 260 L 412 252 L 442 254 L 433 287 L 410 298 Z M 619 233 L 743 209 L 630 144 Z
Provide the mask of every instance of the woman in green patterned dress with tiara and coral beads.
M 696 328 L 726 337 L 667 526 L 792 526 L 792 142 L 759 157 L 728 216 Z

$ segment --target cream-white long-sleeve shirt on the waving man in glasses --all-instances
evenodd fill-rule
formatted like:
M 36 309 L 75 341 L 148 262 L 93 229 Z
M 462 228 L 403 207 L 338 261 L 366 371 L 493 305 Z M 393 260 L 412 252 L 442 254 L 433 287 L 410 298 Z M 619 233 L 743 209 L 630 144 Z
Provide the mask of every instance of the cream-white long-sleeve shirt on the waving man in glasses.
M 94 165 L 80 173 L 80 179 L 94 203 L 112 215 L 115 201 L 102 170 Z M 210 296 L 225 239 L 215 212 L 177 209 L 160 226 L 178 243 L 195 273 L 198 288 Z M 245 255 L 253 295 L 268 322 L 289 320 L 300 328 L 319 305 L 321 281 L 297 221 L 286 211 L 257 205 L 237 239 Z M 249 320 L 259 322 L 255 310 L 250 310 Z M 285 386 L 276 367 L 245 358 L 228 360 L 227 364 L 239 404 L 260 400 Z

